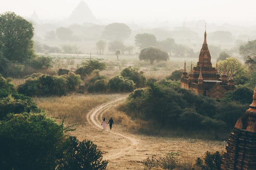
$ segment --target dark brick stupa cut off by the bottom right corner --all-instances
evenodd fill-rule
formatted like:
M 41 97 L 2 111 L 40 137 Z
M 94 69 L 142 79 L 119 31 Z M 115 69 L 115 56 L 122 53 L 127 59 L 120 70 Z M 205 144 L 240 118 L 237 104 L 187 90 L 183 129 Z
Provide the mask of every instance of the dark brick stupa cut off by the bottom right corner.
M 256 87 L 253 103 L 237 120 L 226 150 L 222 170 L 256 170 Z

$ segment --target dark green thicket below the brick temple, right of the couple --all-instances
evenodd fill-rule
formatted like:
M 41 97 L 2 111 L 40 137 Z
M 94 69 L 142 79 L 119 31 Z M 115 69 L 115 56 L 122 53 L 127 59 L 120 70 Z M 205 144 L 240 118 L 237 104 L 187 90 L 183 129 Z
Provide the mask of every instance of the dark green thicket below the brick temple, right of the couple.
M 130 95 L 124 110 L 134 119 L 153 121 L 157 129 L 178 128 L 194 133 L 204 129 L 218 138 L 225 129 L 229 133 L 250 104 L 227 99 L 217 102 L 173 85 L 172 81 L 148 85 L 148 89 L 138 89 Z

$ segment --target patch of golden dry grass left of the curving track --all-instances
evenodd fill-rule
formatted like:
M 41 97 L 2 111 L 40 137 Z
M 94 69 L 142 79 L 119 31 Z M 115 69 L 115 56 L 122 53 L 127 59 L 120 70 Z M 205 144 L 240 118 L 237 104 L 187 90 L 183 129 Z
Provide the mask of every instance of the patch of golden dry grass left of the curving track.
M 47 112 L 47 116 L 58 117 L 72 124 L 84 124 L 86 114 L 102 103 L 121 96 L 121 94 L 97 94 L 97 95 L 79 95 L 73 94 L 62 97 L 35 97 L 33 98 L 38 107 Z

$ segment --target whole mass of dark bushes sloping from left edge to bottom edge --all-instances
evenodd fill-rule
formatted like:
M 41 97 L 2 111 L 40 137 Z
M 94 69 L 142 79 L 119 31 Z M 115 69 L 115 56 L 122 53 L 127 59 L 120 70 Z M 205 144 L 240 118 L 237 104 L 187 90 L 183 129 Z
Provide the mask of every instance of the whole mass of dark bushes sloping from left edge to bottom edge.
M 0 169 L 101 170 L 107 167 L 102 152 L 92 141 L 67 138 L 65 132 L 72 129 L 65 128 L 64 121 L 57 124 L 46 117 L 30 97 L 17 93 L 2 76 L 0 95 Z M 21 107 L 17 110 L 16 105 Z

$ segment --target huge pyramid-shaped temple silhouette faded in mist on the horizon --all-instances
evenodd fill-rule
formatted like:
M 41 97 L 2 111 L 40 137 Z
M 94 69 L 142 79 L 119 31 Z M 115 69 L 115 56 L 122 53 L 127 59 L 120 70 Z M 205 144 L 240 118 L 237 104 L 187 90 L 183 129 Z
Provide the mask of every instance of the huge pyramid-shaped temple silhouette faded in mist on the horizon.
M 84 1 L 78 4 L 67 21 L 70 24 L 83 24 L 85 22 L 99 23 L 99 20 L 93 16 L 92 11 Z

